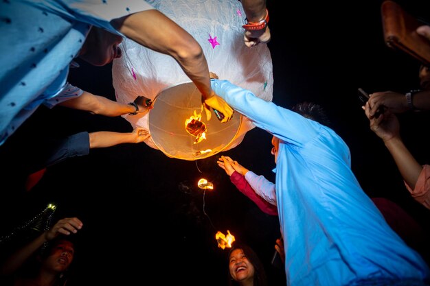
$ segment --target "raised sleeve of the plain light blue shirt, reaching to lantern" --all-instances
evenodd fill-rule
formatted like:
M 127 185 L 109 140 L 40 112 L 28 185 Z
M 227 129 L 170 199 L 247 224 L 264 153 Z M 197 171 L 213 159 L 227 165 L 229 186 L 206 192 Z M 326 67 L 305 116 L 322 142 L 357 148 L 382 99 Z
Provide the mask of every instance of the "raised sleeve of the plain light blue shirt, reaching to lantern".
M 214 92 L 227 104 L 284 142 L 303 145 L 315 138 L 321 125 L 273 102 L 256 97 L 251 91 L 228 80 L 211 80 Z

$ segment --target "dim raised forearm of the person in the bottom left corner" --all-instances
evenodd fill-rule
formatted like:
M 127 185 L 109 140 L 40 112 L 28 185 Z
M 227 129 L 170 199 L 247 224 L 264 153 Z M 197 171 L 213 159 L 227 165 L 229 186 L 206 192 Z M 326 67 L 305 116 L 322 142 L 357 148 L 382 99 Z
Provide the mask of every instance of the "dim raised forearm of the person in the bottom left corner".
M 47 242 L 45 233 L 39 235 L 32 242 L 12 254 L 4 263 L 1 265 L 1 275 L 7 276 L 15 272 L 21 267 L 27 259 L 29 259 L 36 250 L 43 246 L 43 243 Z

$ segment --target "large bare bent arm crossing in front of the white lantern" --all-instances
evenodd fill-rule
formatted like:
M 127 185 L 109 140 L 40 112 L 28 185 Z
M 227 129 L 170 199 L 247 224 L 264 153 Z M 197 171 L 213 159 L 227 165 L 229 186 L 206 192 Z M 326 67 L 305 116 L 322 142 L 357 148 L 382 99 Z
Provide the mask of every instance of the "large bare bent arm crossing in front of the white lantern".
M 132 14 L 122 19 L 118 30 L 144 47 L 172 56 L 205 99 L 214 95 L 203 49 L 185 29 L 167 16 L 157 10 Z

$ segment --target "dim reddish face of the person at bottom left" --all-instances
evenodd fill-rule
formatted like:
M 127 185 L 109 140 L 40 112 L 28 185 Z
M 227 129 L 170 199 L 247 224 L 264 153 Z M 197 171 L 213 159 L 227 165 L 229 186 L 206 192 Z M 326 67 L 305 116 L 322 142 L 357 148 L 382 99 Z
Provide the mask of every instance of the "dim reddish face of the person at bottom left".
M 45 269 L 54 272 L 64 272 L 73 261 L 75 249 L 70 241 L 59 241 L 52 247 L 49 256 L 43 261 Z

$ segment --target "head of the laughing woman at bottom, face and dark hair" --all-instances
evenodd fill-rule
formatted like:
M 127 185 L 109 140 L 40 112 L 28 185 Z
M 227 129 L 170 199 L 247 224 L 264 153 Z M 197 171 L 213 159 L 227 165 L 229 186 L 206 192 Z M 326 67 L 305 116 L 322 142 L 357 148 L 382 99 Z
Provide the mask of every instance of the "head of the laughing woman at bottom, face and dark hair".
M 249 246 L 243 243 L 234 243 L 227 255 L 229 285 L 267 285 L 264 267 Z

